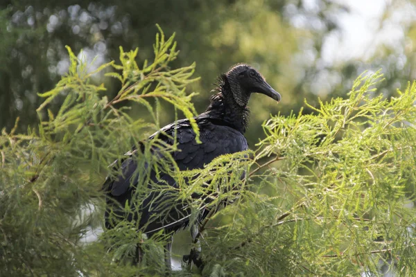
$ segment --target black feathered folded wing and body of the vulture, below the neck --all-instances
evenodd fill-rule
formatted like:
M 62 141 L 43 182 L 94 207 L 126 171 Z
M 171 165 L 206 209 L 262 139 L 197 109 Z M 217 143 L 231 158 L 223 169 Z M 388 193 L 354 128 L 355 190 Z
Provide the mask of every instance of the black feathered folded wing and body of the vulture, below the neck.
M 161 129 L 161 134 L 158 139 L 164 141 L 164 143 L 173 145 L 173 136 L 176 134 L 177 138 L 177 151 L 173 152 L 173 159 L 177 163 L 180 170 L 193 170 L 196 168 L 203 168 L 205 164 L 210 163 L 214 158 L 222 154 L 232 154 L 248 149 L 247 141 L 241 132 L 233 129 L 232 127 L 223 124 L 219 120 L 213 120 L 211 118 L 200 117 L 196 118 L 196 123 L 200 129 L 200 141 L 195 141 L 196 134 L 193 132 L 189 120 L 178 120 L 171 125 Z M 149 139 L 154 139 L 159 132 L 153 134 Z M 157 151 L 157 150 L 155 150 Z M 131 205 L 131 199 L 139 184 L 139 176 L 137 170 L 137 161 L 133 157 L 137 150 L 132 150 L 126 153 L 126 159 L 121 163 L 119 170 L 121 175 L 117 179 L 107 180 L 104 184 L 104 189 L 107 192 L 107 203 L 112 206 L 119 204 L 124 207 L 125 202 L 129 201 Z M 155 153 L 157 154 L 157 153 Z M 116 162 L 115 162 L 116 163 Z M 144 164 L 147 167 L 147 164 Z M 146 172 L 141 170 L 141 172 Z M 150 176 L 150 183 L 168 184 L 168 186 L 175 187 L 175 180 L 165 172 L 159 172 L 157 177 L 154 170 L 147 171 Z M 182 226 L 188 224 L 189 211 L 184 211 L 185 204 L 180 204 L 168 207 L 166 205 L 171 204 L 168 199 L 174 197 L 169 195 L 168 192 L 161 193 L 160 190 L 150 190 L 150 193 L 146 195 L 139 210 L 141 211 L 140 228 L 144 227 L 144 231 L 151 234 L 159 229 L 176 230 Z M 114 213 L 125 217 L 125 213 L 122 209 L 114 209 Z M 160 218 L 161 213 L 164 214 L 163 218 Z M 127 215 L 128 220 L 137 220 L 137 215 Z M 110 222 L 109 214 L 105 214 L 105 225 L 107 228 L 114 226 L 116 222 Z

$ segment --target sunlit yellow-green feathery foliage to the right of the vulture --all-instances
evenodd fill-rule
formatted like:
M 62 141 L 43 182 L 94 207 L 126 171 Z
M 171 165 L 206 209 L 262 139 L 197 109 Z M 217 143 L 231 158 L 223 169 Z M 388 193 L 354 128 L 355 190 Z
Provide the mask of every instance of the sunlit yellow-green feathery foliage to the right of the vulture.
M 375 92 L 381 76 L 360 76 L 349 99 L 309 106 L 315 114 L 263 125 L 252 193 L 221 211 L 230 224 L 205 236 L 215 267 L 358 276 L 380 274 L 385 262 L 398 276 L 415 274 L 416 84 L 387 100 Z

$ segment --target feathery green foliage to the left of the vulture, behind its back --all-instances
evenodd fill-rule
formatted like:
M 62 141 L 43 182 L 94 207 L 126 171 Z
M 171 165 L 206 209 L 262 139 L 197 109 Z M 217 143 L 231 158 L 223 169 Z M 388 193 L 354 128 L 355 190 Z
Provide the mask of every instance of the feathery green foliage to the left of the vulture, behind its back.
M 142 69 L 135 61 L 137 50 L 121 50 L 121 65 L 110 62 L 96 71 L 89 71 L 69 47 L 68 52 L 67 75 L 55 89 L 39 94 L 45 100 L 37 109 L 38 128 L 28 134 L 3 129 L 0 137 L 1 276 L 107 275 L 111 258 L 98 262 L 106 249 L 82 243 L 85 233 L 102 220 L 97 210 L 103 202 L 103 169 L 144 139 L 149 128 L 159 129 L 159 105 L 152 107 L 146 99 L 166 100 L 188 116 L 195 114 L 193 94 L 185 96 L 183 89 L 196 80 L 190 79 L 195 65 L 168 67 L 177 51 L 173 36 L 165 41 L 162 30 L 154 61 Z M 94 74 L 110 66 L 114 71 L 107 75 L 119 78 L 122 86 L 109 101 L 102 95 L 104 85 L 94 84 Z M 48 106 L 62 95 L 62 105 L 53 114 Z M 154 122 L 130 118 L 129 107 L 114 107 L 122 101 L 139 104 L 130 108 L 148 109 Z

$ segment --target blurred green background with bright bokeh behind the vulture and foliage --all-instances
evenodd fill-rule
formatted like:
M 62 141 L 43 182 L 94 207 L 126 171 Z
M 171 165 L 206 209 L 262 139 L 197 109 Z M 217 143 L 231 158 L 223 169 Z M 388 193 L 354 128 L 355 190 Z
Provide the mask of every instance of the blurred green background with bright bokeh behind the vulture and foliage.
M 176 32 L 180 58 L 172 66 L 196 61 L 200 95 L 196 109 L 207 107 L 216 76 L 238 62 L 251 64 L 283 97 L 281 104 L 254 96 L 246 136 L 251 147 L 269 114 L 299 111 L 304 98 L 316 104 L 346 96 L 356 76 L 383 69 L 381 92 L 394 95 L 416 77 L 416 4 L 395 0 L 158 0 L 62 1 L 2 0 L 0 3 L 0 129 L 37 124 L 38 92 L 55 86 L 66 73 L 64 46 L 94 66 L 118 60 L 139 47 L 139 60 L 153 57 L 160 24 Z M 79 56 L 81 57 L 81 55 Z M 93 66 L 93 67 L 94 67 Z M 119 89 L 105 82 L 107 95 Z M 60 105 L 59 100 L 55 102 Z M 171 109 L 162 123 L 173 120 Z M 132 111 L 135 113 L 137 111 Z M 310 112 L 310 110 L 305 111 Z M 143 116 L 143 114 L 137 114 Z

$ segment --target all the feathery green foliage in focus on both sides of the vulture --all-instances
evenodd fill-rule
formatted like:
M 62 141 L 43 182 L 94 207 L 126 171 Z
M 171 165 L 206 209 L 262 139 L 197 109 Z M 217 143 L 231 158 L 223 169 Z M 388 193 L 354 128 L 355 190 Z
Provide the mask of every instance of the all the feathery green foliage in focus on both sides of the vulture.
M 0 276 L 164 274 L 162 231 L 146 239 L 136 222 L 121 222 L 96 242 L 85 243 L 85 236 L 103 221 L 101 186 L 105 175 L 116 174 L 108 164 L 161 127 L 160 101 L 189 118 L 196 114 L 193 94 L 184 92 L 196 80 L 195 65 L 171 69 L 175 45 L 160 30 L 153 62 L 139 66 L 138 50 L 121 48 L 120 64 L 95 71 L 68 48 L 69 73 L 39 94 L 38 127 L 27 134 L 3 129 Z M 111 100 L 97 74 L 120 82 Z M 203 208 L 218 210 L 198 235 L 205 269 L 174 274 L 376 276 L 390 270 L 414 276 L 416 84 L 386 99 L 375 89 L 381 81 L 379 72 L 361 75 L 347 99 L 306 103 L 313 114 L 271 116 L 256 149 L 218 157 L 201 170 L 178 171 L 170 155 L 175 145 L 141 142 L 137 174 L 145 176 L 148 163 L 177 180 L 177 188 L 152 188 L 174 196 L 161 215 L 178 204 L 191 206 L 191 220 Z M 60 109 L 49 109 L 60 98 Z M 146 111 L 151 121 L 133 118 L 130 109 Z M 135 206 L 148 193 L 146 181 Z M 221 208 L 225 201 L 232 204 Z M 148 251 L 132 267 L 137 243 Z

